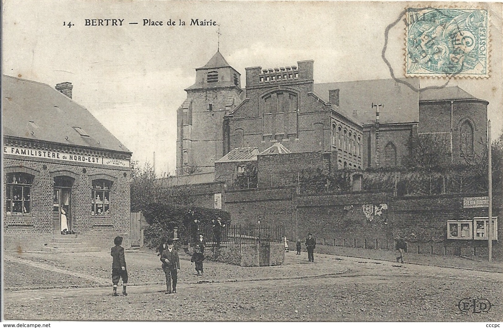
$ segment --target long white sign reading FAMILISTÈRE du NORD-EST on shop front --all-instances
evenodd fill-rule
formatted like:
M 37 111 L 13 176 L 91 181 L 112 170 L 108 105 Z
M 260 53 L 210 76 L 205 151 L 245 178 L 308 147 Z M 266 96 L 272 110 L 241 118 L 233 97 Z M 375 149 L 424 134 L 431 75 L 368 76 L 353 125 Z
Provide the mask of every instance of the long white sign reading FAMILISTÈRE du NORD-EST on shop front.
M 47 150 L 21 148 L 21 147 L 4 146 L 4 155 L 16 155 L 16 156 L 24 156 L 32 158 L 47 158 L 73 163 L 129 167 L 129 161 L 121 159 L 86 156 L 86 155 L 62 153 L 62 152 L 52 152 Z

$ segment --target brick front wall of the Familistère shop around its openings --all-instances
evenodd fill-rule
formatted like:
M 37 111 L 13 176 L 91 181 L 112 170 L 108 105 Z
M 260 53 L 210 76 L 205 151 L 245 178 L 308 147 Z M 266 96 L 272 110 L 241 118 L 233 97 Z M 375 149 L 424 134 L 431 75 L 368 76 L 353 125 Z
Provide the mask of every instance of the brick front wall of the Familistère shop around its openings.
M 4 241 L 6 249 L 40 249 L 54 236 L 53 218 L 53 181 L 51 174 L 67 170 L 76 176 L 71 190 L 71 229 L 85 235 L 97 243 L 110 242 L 110 238 L 121 235 L 128 245 L 130 223 L 130 169 L 104 167 L 91 164 L 61 163 L 49 159 L 4 157 L 4 169 L 25 167 L 35 170 L 35 179 L 31 191 L 31 213 L 25 215 L 7 215 L 4 209 Z M 110 216 L 91 215 L 90 176 L 106 174 L 116 178 L 110 194 Z M 5 176 L 4 176 L 5 179 Z M 6 181 L 6 180 L 5 180 Z M 4 183 L 4 204 L 6 203 L 7 185 Z

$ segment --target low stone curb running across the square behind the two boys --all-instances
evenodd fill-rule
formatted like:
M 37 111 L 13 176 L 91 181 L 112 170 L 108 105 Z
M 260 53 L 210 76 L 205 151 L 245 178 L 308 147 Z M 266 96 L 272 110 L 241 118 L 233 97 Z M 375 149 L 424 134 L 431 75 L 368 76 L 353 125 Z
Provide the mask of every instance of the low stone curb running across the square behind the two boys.
M 225 279 L 225 280 L 198 280 L 198 281 L 185 281 L 180 285 L 192 285 L 192 284 L 203 284 L 203 283 L 225 283 L 225 282 L 244 282 L 244 281 L 264 281 L 264 280 L 293 280 L 293 279 L 304 279 L 304 278 L 325 278 L 325 277 L 333 277 L 337 275 L 344 274 L 348 272 L 348 269 L 339 271 L 339 272 L 331 272 L 331 273 L 323 273 L 309 276 L 288 276 L 288 277 L 263 277 L 263 278 L 242 278 L 242 279 Z M 164 285 L 164 281 L 153 281 L 153 282 L 142 282 L 142 283 L 128 283 L 128 286 L 155 286 L 155 285 Z M 25 287 L 5 287 L 5 291 L 24 291 L 24 290 L 41 290 L 41 289 L 75 289 L 75 288 L 103 288 L 103 287 L 111 287 L 111 284 L 96 284 L 96 285 L 68 285 L 68 286 L 25 286 Z

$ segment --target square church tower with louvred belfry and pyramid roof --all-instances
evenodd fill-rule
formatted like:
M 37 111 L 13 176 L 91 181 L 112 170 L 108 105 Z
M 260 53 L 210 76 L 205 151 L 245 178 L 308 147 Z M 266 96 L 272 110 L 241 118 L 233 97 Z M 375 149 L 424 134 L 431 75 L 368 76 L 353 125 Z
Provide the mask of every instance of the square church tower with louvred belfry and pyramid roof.
M 242 101 L 241 74 L 217 51 L 196 68 L 196 83 L 177 111 L 177 175 L 214 172 L 225 154 L 223 118 Z

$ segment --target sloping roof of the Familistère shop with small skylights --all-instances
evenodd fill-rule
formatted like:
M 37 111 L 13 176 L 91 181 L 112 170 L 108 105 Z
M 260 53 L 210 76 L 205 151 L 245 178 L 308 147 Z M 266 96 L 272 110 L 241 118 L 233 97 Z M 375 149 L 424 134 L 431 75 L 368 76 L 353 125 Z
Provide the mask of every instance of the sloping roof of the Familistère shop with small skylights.
M 129 153 L 86 108 L 48 84 L 3 75 L 2 89 L 4 136 Z

